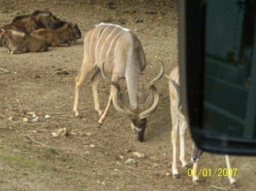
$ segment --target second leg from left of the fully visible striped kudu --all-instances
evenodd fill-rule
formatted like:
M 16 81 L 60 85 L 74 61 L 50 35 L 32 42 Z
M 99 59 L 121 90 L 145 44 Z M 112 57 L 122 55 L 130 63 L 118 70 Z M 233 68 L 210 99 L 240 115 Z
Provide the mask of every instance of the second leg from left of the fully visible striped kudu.
M 100 72 L 100 69 L 98 68 L 96 72 L 93 74 L 91 81 L 92 81 L 92 96 L 94 101 L 94 107 L 95 107 L 95 110 L 98 112 L 99 116 L 102 115 L 102 111 L 100 110 L 100 102 L 98 98 L 97 87 L 101 78 L 102 78 L 101 72 Z

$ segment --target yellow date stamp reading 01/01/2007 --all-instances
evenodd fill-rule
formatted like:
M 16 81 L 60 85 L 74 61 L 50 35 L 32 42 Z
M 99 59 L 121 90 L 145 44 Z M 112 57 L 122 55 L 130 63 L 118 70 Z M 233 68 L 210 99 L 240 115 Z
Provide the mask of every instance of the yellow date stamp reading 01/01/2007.
M 200 168 L 199 172 L 196 169 L 188 168 L 188 176 L 236 176 L 237 168 Z

